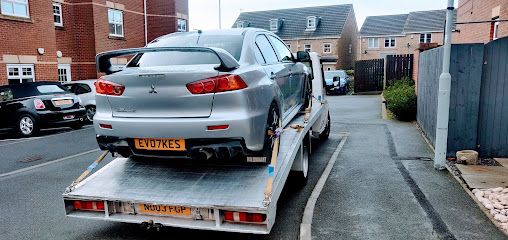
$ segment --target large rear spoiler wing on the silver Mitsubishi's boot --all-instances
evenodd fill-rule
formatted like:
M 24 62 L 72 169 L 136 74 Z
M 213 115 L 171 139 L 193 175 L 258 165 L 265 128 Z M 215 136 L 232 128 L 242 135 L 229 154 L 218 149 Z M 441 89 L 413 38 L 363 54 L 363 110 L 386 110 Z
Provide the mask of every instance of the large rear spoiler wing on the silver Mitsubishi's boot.
M 108 51 L 97 54 L 95 57 L 97 62 L 97 71 L 105 74 L 112 74 L 118 71 L 113 70 L 111 59 L 120 56 L 136 55 L 140 53 L 149 52 L 209 52 L 217 55 L 220 60 L 220 65 L 215 69 L 220 72 L 230 72 L 237 69 L 240 64 L 236 59 L 231 56 L 229 52 L 221 48 L 208 48 L 208 47 L 145 47 L 145 48 L 129 48 L 115 51 Z

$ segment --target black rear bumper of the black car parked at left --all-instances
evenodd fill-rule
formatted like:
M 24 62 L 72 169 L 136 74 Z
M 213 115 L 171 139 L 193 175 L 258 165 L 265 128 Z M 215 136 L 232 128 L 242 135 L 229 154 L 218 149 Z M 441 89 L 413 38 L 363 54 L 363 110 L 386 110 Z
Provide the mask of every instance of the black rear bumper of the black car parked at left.
M 65 119 L 67 116 L 73 116 L 72 119 Z M 38 111 L 37 120 L 43 128 L 65 127 L 76 122 L 81 122 L 86 117 L 84 108 L 64 110 L 64 111 Z

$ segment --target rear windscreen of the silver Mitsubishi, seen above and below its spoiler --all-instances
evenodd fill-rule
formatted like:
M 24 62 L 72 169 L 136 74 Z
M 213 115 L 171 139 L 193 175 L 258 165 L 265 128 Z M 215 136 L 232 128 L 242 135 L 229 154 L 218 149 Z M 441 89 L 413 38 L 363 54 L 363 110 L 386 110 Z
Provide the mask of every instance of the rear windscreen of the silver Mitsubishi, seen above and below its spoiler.
M 148 47 L 212 47 L 222 48 L 240 60 L 243 36 L 175 35 L 165 37 Z M 220 64 L 211 52 L 166 51 L 138 54 L 127 67 L 156 67 L 169 65 Z

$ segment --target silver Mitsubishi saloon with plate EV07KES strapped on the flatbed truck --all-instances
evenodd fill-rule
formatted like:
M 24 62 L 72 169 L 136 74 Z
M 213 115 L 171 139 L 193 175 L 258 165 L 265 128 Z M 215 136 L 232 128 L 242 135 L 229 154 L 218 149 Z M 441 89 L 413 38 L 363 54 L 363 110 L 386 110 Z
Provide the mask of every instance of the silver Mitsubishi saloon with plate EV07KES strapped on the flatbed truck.
M 110 58 L 134 54 L 110 70 Z M 175 33 L 99 54 L 99 69 L 112 73 L 96 84 L 99 146 L 124 157 L 269 162 L 275 130 L 310 102 L 306 59 L 253 28 Z

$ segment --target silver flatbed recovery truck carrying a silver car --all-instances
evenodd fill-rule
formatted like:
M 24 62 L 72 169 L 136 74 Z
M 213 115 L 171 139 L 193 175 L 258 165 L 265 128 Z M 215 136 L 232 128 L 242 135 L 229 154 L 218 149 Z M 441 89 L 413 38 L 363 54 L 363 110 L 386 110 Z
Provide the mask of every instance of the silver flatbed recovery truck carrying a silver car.
M 269 165 L 193 165 L 115 158 L 89 175 L 104 152 L 63 193 L 66 216 L 90 220 L 269 234 L 289 179 L 306 183 L 311 137 L 325 139 L 330 115 L 320 56 L 310 53 L 310 106 L 278 136 Z M 89 176 L 88 176 L 89 175 Z

